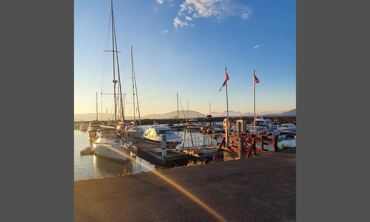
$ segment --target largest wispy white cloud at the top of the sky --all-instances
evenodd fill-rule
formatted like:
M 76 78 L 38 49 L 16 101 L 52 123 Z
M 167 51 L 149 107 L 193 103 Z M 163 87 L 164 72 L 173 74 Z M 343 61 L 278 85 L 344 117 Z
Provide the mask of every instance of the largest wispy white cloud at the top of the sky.
M 215 17 L 219 21 L 232 16 L 239 16 L 242 19 L 249 19 L 252 9 L 246 5 L 234 2 L 234 0 L 185 0 L 179 10 L 179 16 L 186 9 L 188 13 L 194 11 L 193 18 Z

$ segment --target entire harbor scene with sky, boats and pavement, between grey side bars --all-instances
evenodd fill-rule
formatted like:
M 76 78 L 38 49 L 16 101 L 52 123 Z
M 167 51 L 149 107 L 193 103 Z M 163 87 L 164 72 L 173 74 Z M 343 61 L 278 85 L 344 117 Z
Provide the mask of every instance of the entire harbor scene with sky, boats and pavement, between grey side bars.
M 296 221 L 294 4 L 74 4 L 74 221 Z

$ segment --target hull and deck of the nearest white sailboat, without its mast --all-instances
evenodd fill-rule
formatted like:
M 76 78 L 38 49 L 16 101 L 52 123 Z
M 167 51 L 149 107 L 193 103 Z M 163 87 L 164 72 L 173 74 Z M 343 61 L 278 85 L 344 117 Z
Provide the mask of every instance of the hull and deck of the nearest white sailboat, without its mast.
M 115 132 L 115 129 L 99 129 L 92 147 L 98 156 L 126 161 L 132 149 L 132 142 Z

